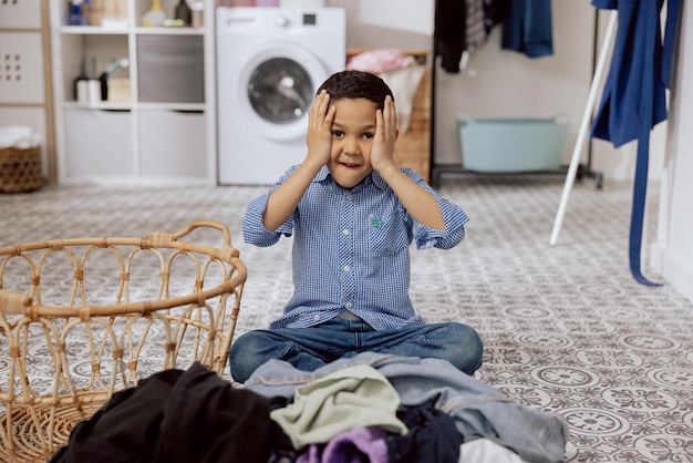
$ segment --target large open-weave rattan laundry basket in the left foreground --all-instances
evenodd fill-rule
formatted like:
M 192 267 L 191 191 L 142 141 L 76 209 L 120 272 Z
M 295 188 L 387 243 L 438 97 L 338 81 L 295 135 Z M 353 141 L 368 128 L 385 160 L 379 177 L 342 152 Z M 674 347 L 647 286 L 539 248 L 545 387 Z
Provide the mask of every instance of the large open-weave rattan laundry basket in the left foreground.
M 219 232 L 218 247 L 182 240 Z M 210 220 L 0 248 L 0 461 L 49 460 L 76 422 L 157 371 L 200 361 L 221 375 L 247 278 L 238 256 Z

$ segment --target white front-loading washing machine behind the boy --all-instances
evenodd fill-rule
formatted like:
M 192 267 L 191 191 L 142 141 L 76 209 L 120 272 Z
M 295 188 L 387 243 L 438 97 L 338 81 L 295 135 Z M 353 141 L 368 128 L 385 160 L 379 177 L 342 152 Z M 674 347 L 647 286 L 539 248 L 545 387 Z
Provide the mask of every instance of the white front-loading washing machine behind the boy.
M 316 92 L 344 69 L 344 9 L 220 7 L 216 19 L 219 184 L 275 183 L 306 157 Z

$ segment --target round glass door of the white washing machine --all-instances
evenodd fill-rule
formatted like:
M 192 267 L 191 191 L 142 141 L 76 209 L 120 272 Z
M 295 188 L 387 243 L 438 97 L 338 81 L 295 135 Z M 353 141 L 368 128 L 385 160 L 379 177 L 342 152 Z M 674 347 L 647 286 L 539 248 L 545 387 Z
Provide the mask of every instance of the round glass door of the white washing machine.
M 297 44 L 268 42 L 246 53 L 230 82 L 239 116 L 263 138 L 277 142 L 306 136 L 308 111 L 318 86 L 329 76 L 320 60 Z

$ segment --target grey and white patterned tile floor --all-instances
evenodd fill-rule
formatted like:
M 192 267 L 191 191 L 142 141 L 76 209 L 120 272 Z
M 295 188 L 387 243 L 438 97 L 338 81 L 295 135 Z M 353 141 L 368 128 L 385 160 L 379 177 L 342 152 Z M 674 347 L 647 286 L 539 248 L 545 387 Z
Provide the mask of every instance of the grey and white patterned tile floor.
M 562 178 L 464 176 L 439 192 L 472 218 L 448 250 L 413 251 L 412 299 L 428 321 L 461 320 L 485 342 L 477 378 L 562 414 L 570 462 L 693 461 L 693 305 L 628 270 L 631 185 L 578 183 L 548 245 Z M 0 246 L 144 236 L 196 218 L 226 223 L 248 265 L 237 333 L 266 326 L 291 294 L 290 241 L 245 245 L 245 206 L 265 187 L 45 187 L 0 195 Z M 656 217 L 656 185 L 649 217 Z M 648 237 L 655 234 L 649 220 Z M 656 279 L 656 275 L 651 275 Z M 0 374 L 7 364 L 0 362 Z

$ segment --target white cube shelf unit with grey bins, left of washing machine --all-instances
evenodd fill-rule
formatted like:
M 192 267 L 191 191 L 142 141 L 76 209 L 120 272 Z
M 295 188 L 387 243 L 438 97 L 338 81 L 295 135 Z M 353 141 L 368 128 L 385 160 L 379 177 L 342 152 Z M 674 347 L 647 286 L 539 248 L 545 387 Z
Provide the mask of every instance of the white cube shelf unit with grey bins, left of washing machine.
M 200 28 L 145 28 L 151 0 L 112 1 L 127 11 L 116 27 L 68 25 L 68 2 L 50 2 L 58 182 L 216 185 L 215 1 L 204 1 Z M 161 1 L 167 18 L 177 3 Z M 122 58 L 130 65 L 108 81 L 125 83 L 128 99 L 76 101 L 82 60 L 99 79 Z

